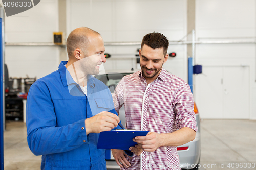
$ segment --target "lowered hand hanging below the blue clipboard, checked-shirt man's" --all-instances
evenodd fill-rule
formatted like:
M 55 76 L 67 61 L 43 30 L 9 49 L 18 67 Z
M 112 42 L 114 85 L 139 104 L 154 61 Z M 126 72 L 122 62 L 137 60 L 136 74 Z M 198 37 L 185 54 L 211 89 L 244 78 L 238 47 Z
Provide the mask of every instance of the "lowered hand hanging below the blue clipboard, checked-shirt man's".
M 131 166 L 130 162 L 125 158 L 125 152 L 123 150 L 114 150 L 112 149 L 112 155 L 116 160 L 116 163 L 120 166 L 120 167 L 127 167 L 129 168 Z M 127 155 L 128 156 L 128 155 Z M 130 157 L 130 156 L 129 156 Z M 132 159 L 132 157 L 130 157 Z M 120 163 L 120 162 L 121 163 Z

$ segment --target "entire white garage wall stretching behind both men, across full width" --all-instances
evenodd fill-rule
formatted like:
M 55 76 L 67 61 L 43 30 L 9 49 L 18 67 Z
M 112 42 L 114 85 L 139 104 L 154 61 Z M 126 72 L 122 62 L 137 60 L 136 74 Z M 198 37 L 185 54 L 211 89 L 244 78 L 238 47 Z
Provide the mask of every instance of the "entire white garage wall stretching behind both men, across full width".
M 106 43 L 141 42 L 155 31 L 176 42 L 168 53 L 177 56 L 169 57 L 164 68 L 187 81 L 191 44 L 178 41 L 191 41 L 195 29 L 196 41 L 219 42 L 195 45 L 195 64 L 203 66 L 203 74 L 194 75 L 193 87 L 201 118 L 256 119 L 255 16 L 255 0 L 44 0 L 5 17 L 5 63 L 9 77 L 39 79 L 67 60 L 66 48 L 13 43 L 52 43 L 53 32 L 67 37 L 82 26 L 98 31 Z M 112 55 L 106 70 L 136 68 L 140 45 L 105 48 Z

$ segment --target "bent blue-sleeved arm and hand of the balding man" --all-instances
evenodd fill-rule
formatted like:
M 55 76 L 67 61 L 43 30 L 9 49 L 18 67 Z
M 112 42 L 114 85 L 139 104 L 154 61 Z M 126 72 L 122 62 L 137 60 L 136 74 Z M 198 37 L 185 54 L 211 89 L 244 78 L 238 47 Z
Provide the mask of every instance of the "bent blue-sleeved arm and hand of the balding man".
M 47 85 L 40 81 L 30 87 L 26 114 L 28 145 L 35 155 L 73 150 L 89 142 L 87 134 L 90 132 L 111 130 L 119 122 L 117 115 L 113 114 L 113 116 L 111 113 L 109 116 L 110 113 L 105 112 L 89 120 L 82 119 L 72 124 L 56 127 L 56 115 L 50 92 Z M 93 124 L 93 121 L 96 123 Z M 86 124 L 95 129 L 87 128 Z

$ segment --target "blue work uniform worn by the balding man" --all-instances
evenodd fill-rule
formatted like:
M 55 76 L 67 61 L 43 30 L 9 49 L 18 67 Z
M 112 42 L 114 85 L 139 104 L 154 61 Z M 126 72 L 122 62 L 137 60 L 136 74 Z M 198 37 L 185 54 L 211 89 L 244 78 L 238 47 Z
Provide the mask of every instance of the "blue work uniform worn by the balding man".
M 111 92 L 89 75 L 84 95 L 66 63 L 62 61 L 57 71 L 30 87 L 26 106 L 29 148 L 42 155 L 41 169 L 106 169 L 105 149 L 97 149 L 99 134 L 86 135 L 85 119 L 101 111 L 117 115 Z

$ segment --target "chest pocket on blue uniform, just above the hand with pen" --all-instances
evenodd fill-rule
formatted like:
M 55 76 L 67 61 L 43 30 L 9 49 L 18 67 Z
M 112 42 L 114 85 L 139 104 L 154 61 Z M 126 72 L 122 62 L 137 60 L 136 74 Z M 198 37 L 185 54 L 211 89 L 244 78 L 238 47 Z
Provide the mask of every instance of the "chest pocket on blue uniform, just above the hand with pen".
M 110 100 L 104 99 L 104 98 L 103 99 L 95 98 L 95 99 L 89 100 L 89 104 L 90 104 L 93 116 L 103 111 L 109 111 L 111 108 Z

